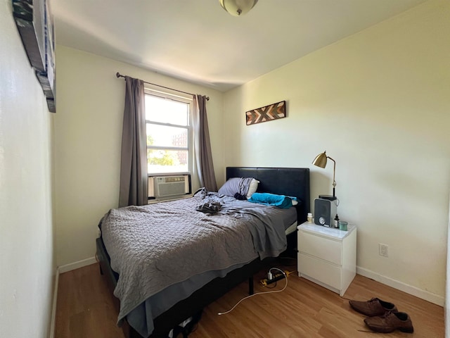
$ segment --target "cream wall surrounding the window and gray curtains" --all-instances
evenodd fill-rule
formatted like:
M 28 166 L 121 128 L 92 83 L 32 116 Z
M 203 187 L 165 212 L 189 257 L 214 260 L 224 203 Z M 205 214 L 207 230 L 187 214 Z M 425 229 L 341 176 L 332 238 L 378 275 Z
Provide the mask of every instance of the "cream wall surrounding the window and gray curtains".
M 55 225 L 60 266 L 94 257 L 98 221 L 117 208 L 125 87 L 115 74 L 210 96 L 208 123 L 220 177 L 223 94 L 60 45 L 56 63 Z

